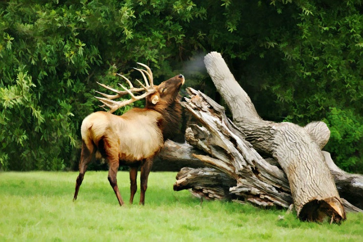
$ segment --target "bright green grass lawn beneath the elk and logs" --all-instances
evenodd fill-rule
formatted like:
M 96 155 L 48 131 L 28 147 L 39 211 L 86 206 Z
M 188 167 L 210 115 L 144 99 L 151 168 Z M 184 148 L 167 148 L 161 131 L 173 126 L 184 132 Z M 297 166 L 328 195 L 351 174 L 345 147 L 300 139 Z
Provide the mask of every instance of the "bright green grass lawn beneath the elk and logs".
M 145 206 L 119 207 L 107 172 L 88 171 L 72 202 L 77 172 L 1 172 L 0 241 L 363 241 L 363 214 L 341 225 L 294 214 L 204 201 L 174 192 L 175 172 L 152 172 Z M 125 202 L 129 173 L 118 172 Z M 283 215 L 283 220 L 278 219 Z

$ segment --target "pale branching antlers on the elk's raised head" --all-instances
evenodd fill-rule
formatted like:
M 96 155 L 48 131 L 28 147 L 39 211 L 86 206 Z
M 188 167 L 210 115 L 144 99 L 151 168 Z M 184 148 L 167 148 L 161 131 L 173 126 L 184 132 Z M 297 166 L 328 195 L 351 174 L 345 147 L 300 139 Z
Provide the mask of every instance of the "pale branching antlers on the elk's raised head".
M 104 87 L 104 88 L 106 88 L 106 89 L 108 89 L 108 90 L 110 90 L 112 92 L 117 93 L 115 95 L 108 95 L 108 94 L 96 91 L 97 93 L 104 96 L 104 97 L 95 97 L 104 104 L 101 107 L 104 107 L 104 106 L 109 107 L 110 108 L 109 112 L 112 113 L 115 110 L 117 110 L 118 108 L 126 106 L 126 105 L 128 105 L 130 103 L 133 103 L 136 100 L 143 99 L 143 98 L 149 96 L 150 94 L 152 94 L 152 93 L 154 93 L 156 91 L 154 89 L 154 80 L 153 80 L 153 75 L 152 75 L 152 72 L 151 72 L 150 68 L 148 66 L 142 64 L 142 63 L 137 63 L 137 64 L 139 64 L 140 66 L 143 66 L 143 67 L 146 68 L 146 70 L 134 68 L 135 70 L 138 70 L 142 74 L 142 76 L 144 78 L 144 81 L 145 81 L 145 85 L 142 84 L 139 80 L 136 79 L 136 81 L 142 86 L 142 88 L 135 88 L 128 78 L 126 78 L 125 76 L 123 76 L 121 74 L 118 74 L 118 73 L 117 73 L 118 76 L 124 78 L 128 82 L 128 84 L 130 85 L 130 89 L 127 89 L 122 84 L 118 84 L 125 90 L 125 91 L 119 91 L 119 90 L 113 89 L 112 87 L 109 87 L 109 86 L 106 86 L 104 84 L 101 84 L 101 83 L 97 82 L 100 86 L 102 86 L 102 87 Z M 150 84 L 149 84 L 145 74 L 148 76 Z M 135 96 L 133 94 L 133 92 L 141 92 L 141 91 L 146 91 L 146 92 L 144 94 L 140 95 L 140 96 Z M 125 101 L 113 101 L 113 99 L 122 97 L 122 96 L 124 96 L 126 94 L 130 94 L 131 99 L 128 99 L 128 100 L 125 100 Z

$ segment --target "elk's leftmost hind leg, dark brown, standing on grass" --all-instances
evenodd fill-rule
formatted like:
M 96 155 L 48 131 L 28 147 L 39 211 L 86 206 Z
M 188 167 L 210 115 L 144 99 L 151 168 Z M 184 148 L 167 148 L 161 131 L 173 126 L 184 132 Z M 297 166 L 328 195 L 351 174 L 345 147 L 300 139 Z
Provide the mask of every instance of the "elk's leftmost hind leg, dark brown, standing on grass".
M 77 199 L 79 188 L 81 187 L 84 174 L 86 173 L 89 162 L 93 159 L 95 153 L 95 147 L 92 143 L 87 145 L 84 140 L 82 140 L 82 151 L 81 151 L 81 159 L 79 163 L 79 175 L 76 179 L 76 189 L 75 195 L 73 197 L 73 201 Z

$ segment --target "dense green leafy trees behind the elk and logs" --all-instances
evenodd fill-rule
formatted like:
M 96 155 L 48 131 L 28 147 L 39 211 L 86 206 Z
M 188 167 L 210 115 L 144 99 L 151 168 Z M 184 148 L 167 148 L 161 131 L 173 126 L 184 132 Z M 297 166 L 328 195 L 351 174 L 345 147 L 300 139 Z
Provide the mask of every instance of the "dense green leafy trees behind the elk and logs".
M 324 149 L 363 173 L 362 33 L 349 0 L 2 1 L 0 169 L 76 169 L 96 82 L 139 78 L 136 62 L 223 104 L 203 64 L 218 51 L 261 117 L 322 120 Z

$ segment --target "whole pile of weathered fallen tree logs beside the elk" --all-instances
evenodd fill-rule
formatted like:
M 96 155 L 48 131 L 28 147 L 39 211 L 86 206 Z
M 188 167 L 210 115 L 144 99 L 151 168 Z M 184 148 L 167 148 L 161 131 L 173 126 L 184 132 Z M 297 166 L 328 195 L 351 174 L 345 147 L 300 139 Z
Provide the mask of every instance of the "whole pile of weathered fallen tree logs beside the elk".
M 185 106 L 203 126 L 191 125 L 186 139 L 193 149 L 205 152 L 190 154 L 213 168 L 181 169 L 174 190 L 191 189 L 198 197 L 247 200 L 259 206 L 287 208 L 293 203 L 297 216 L 309 221 L 328 216 L 332 222 L 340 222 L 346 218 L 344 207 L 360 211 L 359 202 L 355 207 L 338 194 L 337 176 L 334 180 L 327 156 L 321 151 L 330 136 L 324 123 L 314 122 L 302 128 L 265 121 L 219 53 L 208 54 L 205 64 L 232 112 L 233 122 L 225 116 L 222 106 L 188 89 L 190 99 Z M 273 159 L 264 159 L 260 154 Z M 347 186 L 363 191 L 360 181 L 356 175 Z M 357 196 L 359 200 L 362 195 Z

